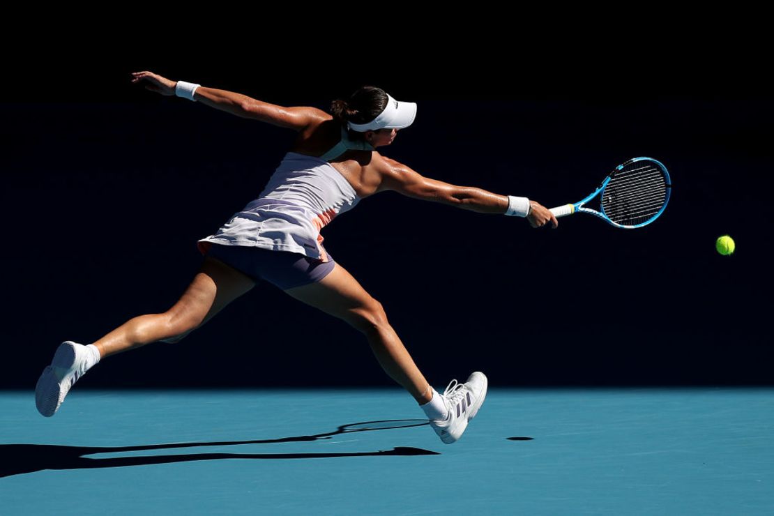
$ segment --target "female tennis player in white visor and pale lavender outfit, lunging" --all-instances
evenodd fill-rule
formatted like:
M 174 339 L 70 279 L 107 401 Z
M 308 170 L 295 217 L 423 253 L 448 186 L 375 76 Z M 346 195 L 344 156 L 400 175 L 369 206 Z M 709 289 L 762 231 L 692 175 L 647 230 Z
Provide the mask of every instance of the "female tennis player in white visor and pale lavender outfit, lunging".
M 132 83 L 292 129 L 298 136 L 258 198 L 198 242 L 203 264 L 166 313 L 137 316 L 88 345 L 60 344 L 36 386 L 38 411 L 56 413 L 75 382 L 102 358 L 152 342 L 176 342 L 257 283 L 269 282 L 360 330 L 379 364 L 416 399 L 440 439 L 459 439 L 484 402 L 487 378 L 474 372 L 464 384 L 451 381 L 443 395 L 435 391 L 382 305 L 328 254 L 320 230 L 359 200 L 385 190 L 484 214 L 526 217 L 533 227 L 548 222 L 557 227 L 553 214 L 526 197 L 426 178 L 377 152 L 416 116 L 416 104 L 396 101 L 378 87 L 361 87 L 348 101 L 334 101 L 328 114 L 310 107 L 283 108 L 149 71 L 132 73 Z

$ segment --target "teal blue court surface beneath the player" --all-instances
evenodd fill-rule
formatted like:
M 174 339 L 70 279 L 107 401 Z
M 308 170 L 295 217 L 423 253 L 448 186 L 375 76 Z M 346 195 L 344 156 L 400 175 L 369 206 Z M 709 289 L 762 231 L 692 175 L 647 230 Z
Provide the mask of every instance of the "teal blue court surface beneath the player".
M 437 386 L 438 387 L 438 386 Z M 774 389 L 0 394 L 0 514 L 774 514 Z

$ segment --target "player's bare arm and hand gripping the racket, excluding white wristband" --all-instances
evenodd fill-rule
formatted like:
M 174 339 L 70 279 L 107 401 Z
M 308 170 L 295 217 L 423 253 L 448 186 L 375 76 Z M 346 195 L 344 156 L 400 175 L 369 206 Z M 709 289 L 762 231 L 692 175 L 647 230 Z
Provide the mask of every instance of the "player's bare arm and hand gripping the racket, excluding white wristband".
M 393 159 L 379 156 L 384 161 L 381 168 L 382 183 L 378 190 L 394 190 L 414 199 L 430 200 L 437 203 L 483 214 L 505 214 L 509 210 L 509 196 L 491 193 L 474 186 L 457 186 L 437 179 L 422 176 L 415 170 Z M 557 227 L 557 218 L 546 208 L 529 201 L 526 214 L 533 227 L 551 222 Z

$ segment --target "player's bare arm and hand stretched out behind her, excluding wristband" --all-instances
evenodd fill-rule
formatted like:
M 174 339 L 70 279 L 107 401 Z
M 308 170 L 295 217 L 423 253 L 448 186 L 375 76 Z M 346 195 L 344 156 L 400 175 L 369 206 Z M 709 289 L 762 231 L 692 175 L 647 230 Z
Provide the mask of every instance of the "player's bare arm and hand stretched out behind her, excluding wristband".
M 144 83 L 147 90 L 167 96 L 176 94 L 178 84 L 178 81 L 149 71 L 132 73 L 132 83 L 139 82 Z M 324 111 L 317 108 L 285 108 L 235 91 L 201 85 L 196 87 L 191 100 L 200 101 L 211 108 L 226 111 L 241 118 L 252 118 L 295 131 L 301 131 L 313 121 L 325 116 Z

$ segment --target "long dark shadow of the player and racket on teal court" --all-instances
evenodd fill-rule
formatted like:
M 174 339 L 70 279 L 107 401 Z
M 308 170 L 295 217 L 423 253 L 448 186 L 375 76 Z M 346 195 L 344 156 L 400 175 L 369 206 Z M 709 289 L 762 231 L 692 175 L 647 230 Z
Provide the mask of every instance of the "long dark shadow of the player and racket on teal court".
M 81 470 L 102 467 L 146 466 L 191 462 L 196 460 L 222 459 L 328 459 L 332 457 L 360 456 L 414 456 L 440 455 L 427 449 L 396 446 L 393 449 L 360 453 L 188 453 L 174 455 L 89 458 L 95 453 L 123 453 L 152 449 L 194 448 L 197 446 L 240 446 L 245 444 L 299 443 L 330 439 L 343 433 L 368 432 L 372 430 L 403 429 L 427 425 L 426 419 L 392 419 L 368 421 L 341 425 L 334 432 L 314 436 L 291 436 L 279 439 L 256 439 L 251 441 L 218 441 L 213 443 L 170 443 L 142 446 L 61 446 L 50 444 L 4 444 L 0 445 L 0 478 L 34 473 L 42 470 Z

